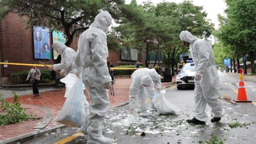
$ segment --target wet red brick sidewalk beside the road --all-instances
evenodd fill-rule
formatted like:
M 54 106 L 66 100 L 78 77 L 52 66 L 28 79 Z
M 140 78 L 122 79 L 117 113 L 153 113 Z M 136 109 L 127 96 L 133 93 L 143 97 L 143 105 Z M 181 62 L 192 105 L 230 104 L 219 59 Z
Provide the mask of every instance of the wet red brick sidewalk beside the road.
M 174 81 L 175 76 L 173 77 L 173 82 Z M 170 83 L 171 82 L 163 82 L 162 87 L 166 87 Z M 111 106 L 128 101 L 130 84 L 131 78 L 116 79 L 116 83 L 113 84 L 115 96 L 113 96 L 113 94 L 111 95 L 111 92 L 109 90 L 109 100 Z M 21 95 L 19 96 L 18 101 L 22 104 L 22 107 L 26 110 L 28 114 L 37 114 L 39 117 L 45 117 L 45 111 L 43 108 L 38 106 L 45 106 L 50 108 L 53 112 L 53 118 L 48 124 L 48 128 L 59 124 L 58 122 L 54 122 L 54 119 L 58 114 L 59 110 L 61 110 L 63 103 L 65 102 L 64 94 L 65 88 L 61 88 L 57 90 L 41 92 L 39 97 L 34 97 L 33 94 Z M 5 98 L 5 100 L 12 102 L 13 98 Z M 87 100 L 90 103 L 90 99 Z M 34 132 L 35 130 L 33 128 L 41 121 L 42 119 L 28 120 L 18 124 L 0 126 L 0 141 L 20 136 L 26 133 Z

